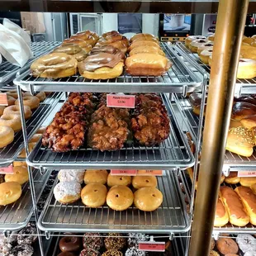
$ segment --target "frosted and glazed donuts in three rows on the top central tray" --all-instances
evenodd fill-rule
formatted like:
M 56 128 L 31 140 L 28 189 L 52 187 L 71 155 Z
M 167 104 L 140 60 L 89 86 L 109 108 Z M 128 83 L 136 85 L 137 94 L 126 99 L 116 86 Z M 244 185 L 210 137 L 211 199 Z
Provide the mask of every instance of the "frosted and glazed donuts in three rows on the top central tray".
M 79 33 L 88 36 L 87 31 Z M 104 33 L 97 44 L 83 50 L 78 38 L 64 40 L 50 55 L 44 55 L 31 64 L 31 73 L 41 78 L 64 78 L 79 71 L 88 79 L 116 78 L 123 72 L 131 75 L 164 74 L 171 67 L 165 57 L 159 40 L 150 34 L 136 34 L 130 41 L 117 31 Z M 130 46 L 129 46 L 130 45 Z M 93 46 L 93 45 L 91 45 Z M 125 60 L 127 50 L 130 56 Z

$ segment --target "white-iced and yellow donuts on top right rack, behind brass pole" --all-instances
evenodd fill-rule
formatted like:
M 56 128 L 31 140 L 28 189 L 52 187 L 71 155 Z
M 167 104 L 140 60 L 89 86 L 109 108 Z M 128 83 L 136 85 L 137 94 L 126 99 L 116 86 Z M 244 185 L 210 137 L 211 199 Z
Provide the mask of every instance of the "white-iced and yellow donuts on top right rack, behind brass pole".
M 256 36 L 248 38 L 244 36 L 240 50 L 237 78 L 256 77 Z M 197 53 L 204 64 L 211 66 L 211 57 L 214 50 L 214 36 L 188 36 L 185 45 Z M 249 44 L 249 41 L 252 43 Z

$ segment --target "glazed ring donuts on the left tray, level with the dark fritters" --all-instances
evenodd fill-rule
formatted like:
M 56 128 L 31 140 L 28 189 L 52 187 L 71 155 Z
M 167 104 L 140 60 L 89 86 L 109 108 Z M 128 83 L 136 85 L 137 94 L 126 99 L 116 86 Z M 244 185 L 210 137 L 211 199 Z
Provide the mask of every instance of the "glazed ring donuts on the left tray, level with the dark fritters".
M 17 92 L 9 91 L 6 93 L 8 107 L 0 106 L 0 148 L 12 143 L 15 133 L 22 129 Z M 45 100 L 45 92 L 39 92 L 36 96 L 31 96 L 30 92 L 24 92 L 23 95 L 25 118 L 29 119 L 32 111 L 39 107 L 40 102 Z

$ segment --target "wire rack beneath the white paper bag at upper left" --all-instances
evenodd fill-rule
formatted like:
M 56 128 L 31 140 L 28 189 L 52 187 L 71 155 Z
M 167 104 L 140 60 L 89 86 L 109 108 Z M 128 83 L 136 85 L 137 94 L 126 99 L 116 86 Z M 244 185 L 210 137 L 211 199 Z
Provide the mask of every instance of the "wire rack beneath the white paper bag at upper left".
M 40 55 L 44 55 L 50 52 L 50 50 L 53 50 L 59 44 L 60 42 L 32 42 L 31 51 L 33 52 L 34 56 L 29 59 L 25 66 L 22 68 L 11 64 L 7 60 L 3 61 L 0 65 L 0 84 L 11 81 L 13 78 L 15 78 L 17 72 L 24 72 L 26 69 L 29 68 L 32 61 L 34 61 Z

